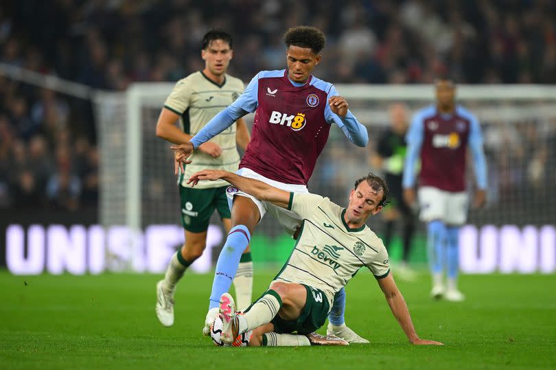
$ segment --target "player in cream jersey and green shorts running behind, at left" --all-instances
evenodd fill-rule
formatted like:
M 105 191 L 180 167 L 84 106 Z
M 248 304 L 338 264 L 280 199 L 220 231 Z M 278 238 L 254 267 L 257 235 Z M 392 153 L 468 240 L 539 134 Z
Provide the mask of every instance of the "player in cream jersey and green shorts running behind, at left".
M 196 132 L 223 107 L 229 106 L 244 90 L 243 82 L 229 76 L 226 71 L 233 56 L 231 35 L 222 30 L 211 30 L 202 38 L 202 59 L 205 69 L 179 80 L 167 97 L 157 122 L 157 136 L 172 143 L 187 143 Z M 182 128 L 175 126 L 181 119 Z M 225 181 L 200 183 L 192 189 L 187 178 L 207 166 L 235 171 L 240 163 L 236 143 L 245 150 L 249 132 L 242 118 L 220 135 L 199 146 L 192 155 L 194 163 L 187 165 L 178 178 L 181 197 L 181 219 L 185 229 L 185 244 L 170 261 L 163 280 L 157 284 L 156 312 L 165 326 L 174 323 L 174 290 L 176 284 L 205 250 L 207 229 L 216 209 L 224 228 L 231 229 Z M 201 165 L 202 167 L 198 167 Z M 242 251 L 243 252 L 243 251 Z M 253 262 L 246 246 L 238 275 L 234 280 L 238 306 L 246 308 L 251 303 L 253 290 Z

